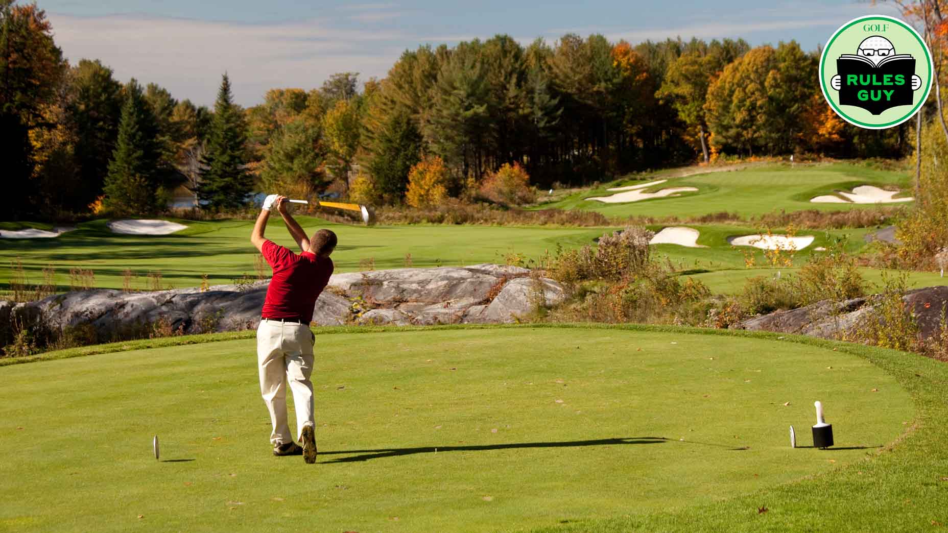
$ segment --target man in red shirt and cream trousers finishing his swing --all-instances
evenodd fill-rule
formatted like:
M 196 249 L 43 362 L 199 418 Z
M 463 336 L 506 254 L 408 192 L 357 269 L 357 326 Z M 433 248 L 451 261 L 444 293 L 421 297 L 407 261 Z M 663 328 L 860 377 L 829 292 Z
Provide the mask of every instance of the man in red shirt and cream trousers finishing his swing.
M 319 293 L 329 283 L 333 261 L 329 255 L 336 248 L 336 233 L 319 230 L 312 239 L 306 238 L 296 220 L 286 212 L 285 196 L 270 194 L 264 200 L 264 209 L 250 234 L 250 242 L 257 247 L 273 268 L 273 279 L 266 289 L 262 320 L 257 327 L 257 361 L 260 366 L 260 392 L 270 411 L 273 432 L 270 443 L 273 454 L 302 455 L 307 463 L 316 462 L 316 421 L 313 415 L 313 346 L 316 336 L 309 329 L 313 307 Z M 283 216 L 286 229 L 300 246 L 301 253 L 293 253 L 264 238 L 270 209 L 276 207 Z M 296 405 L 297 431 L 293 438 L 286 419 L 286 382 L 293 391 Z M 302 447 L 296 443 L 302 442 Z

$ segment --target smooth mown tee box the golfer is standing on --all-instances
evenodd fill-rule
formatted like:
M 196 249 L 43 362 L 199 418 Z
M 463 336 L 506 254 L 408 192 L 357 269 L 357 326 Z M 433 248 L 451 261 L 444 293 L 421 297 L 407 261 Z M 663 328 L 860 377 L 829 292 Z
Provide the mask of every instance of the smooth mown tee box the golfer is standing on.
M 319 464 L 269 454 L 254 341 L 0 368 L 0 528 L 487 531 L 718 502 L 915 418 L 865 358 L 605 327 L 319 329 Z M 823 401 L 837 448 L 811 444 Z M 151 440 L 158 434 L 163 462 Z

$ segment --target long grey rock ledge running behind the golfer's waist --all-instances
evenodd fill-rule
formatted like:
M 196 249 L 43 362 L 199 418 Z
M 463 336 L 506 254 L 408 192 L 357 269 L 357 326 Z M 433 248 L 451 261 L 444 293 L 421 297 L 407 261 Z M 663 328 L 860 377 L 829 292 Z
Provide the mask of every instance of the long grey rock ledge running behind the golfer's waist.
M 93 328 L 98 340 L 143 328 L 190 333 L 254 328 L 269 281 L 155 292 L 93 289 L 31 303 L 0 302 L 0 323 L 40 322 L 50 331 Z M 542 296 L 540 294 L 542 293 Z M 319 295 L 316 325 L 515 322 L 563 300 L 553 280 L 520 267 L 399 268 L 336 274 Z M 9 335 L 4 336 L 9 340 Z

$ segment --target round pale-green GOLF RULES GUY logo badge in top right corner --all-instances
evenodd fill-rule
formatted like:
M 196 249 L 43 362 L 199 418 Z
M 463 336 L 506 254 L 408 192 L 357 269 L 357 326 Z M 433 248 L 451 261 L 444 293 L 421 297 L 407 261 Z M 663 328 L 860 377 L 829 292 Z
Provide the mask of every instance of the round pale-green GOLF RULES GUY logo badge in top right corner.
M 869 15 L 837 29 L 820 57 L 820 86 L 833 110 L 869 129 L 897 126 L 932 86 L 932 57 L 914 28 Z

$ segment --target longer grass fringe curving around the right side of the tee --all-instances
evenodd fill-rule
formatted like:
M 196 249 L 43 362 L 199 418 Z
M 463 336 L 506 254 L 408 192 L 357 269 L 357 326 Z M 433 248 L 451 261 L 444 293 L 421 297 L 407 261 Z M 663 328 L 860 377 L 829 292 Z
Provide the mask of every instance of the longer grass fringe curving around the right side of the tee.
M 943 531 L 948 525 L 948 366 L 843 342 L 786 340 L 831 345 L 895 377 L 918 410 L 910 431 L 878 456 L 792 483 L 749 494 L 722 494 L 714 503 L 658 512 L 629 510 L 621 517 L 580 519 L 533 533 Z

